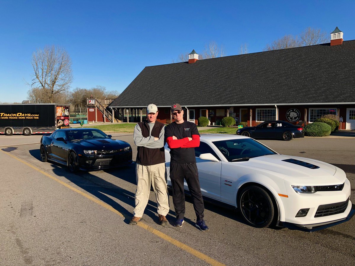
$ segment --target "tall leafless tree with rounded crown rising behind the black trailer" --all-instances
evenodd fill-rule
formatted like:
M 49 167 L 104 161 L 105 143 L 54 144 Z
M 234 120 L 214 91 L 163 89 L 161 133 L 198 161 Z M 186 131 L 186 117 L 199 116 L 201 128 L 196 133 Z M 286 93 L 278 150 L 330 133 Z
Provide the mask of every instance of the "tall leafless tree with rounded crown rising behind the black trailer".
M 37 49 L 32 55 L 34 70 L 31 83 L 32 88 L 43 89 L 48 96 L 48 102 L 54 102 L 54 95 L 69 90 L 73 81 L 71 59 L 64 48 L 45 46 Z

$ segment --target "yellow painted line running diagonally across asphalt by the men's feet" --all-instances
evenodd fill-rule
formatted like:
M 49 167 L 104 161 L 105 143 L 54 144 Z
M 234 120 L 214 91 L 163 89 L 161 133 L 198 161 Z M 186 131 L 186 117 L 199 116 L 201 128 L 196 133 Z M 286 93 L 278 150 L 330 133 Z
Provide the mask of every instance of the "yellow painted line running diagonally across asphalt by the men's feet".
M 22 162 L 23 164 L 25 164 L 25 165 L 31 167 L 32 169 L 34 169 L 34 170 L 36 170 L 36 171 L 38 171 L 38 172 L 44 174 L 45 176 L 47 176 L 47 177 L 53 179 L 54 181 L 56 181 L 56 182 L 58 182 L 58 183 L 64 185 L 65 187 L 67 187 L 67 188 L 73 190 L 74 192 L 79 193 L 80 195 L 82 195 L 82 196 L 88 198 L 89 200 L 94 201 L 95 203 L 99 204 L 100 206 L 106 208 L 107 210 L 110 210 L 110 211 L 114 212 L 115 214 L 118 214 L 119 216 L 124 217 L 123 214 L 121 214 L 118 210 L 114 209 L 112 206 L 108 205 L 107 203 L 104 203 L 103 201 L 98 200 L 98 199 L 94 198 L 93 196 L 91 196 L 91 195 L 89 195 L 89 194 L 87 194 L 87 193 L 85 193 L 85 192 L 82 192 L 81 190 L 79 190 L 79 189 L 77 189 L 77 188 L 72 187 L 71 185 L 69 185 L 69 184 L 67 184 L 67 183 L 65 183 L 65 182 L 63 182 L 63 181 L 61 181 L 61 180 L 59 180 L 58 178 L 56 178 L 56 177 L 54 177 L 54 176 L 51 176 L 49 173 L 46 173 L 46 172 L 44 172 L 44 171 L 38 169 L 37 167 L 34 167 L 33 165 L 29 164 L 28 162 L 25 162 L 25 161 L 21 160 L 20 158 L 14 156 L 14 155 L 12 155 L 12 154 L 10 154 L 10 153 L 8 153 L 8 152 L 5 152 L 5 151 L 2 151 L 2 152 L 5 153 L 5 154 L 7 154 L 7 155 L 9 155 L 9 156 L 11 156 L 13 159 L 16 159 L 17 161 L 20 161 L 20 162 Z M 177 246 L 178 248 L 180 248 L 180 249 L 182 249 L 182 250 L 185 250 L 186 252 L 190 253 L 191 255 L 193 255 L 193 256 L 195 256 L 195 257 L 198 257 L 199 259 L 201 259 L 201 260 L 207 262 L 208 264 L 211 264 L 211 265 L 221 265 L 221 266 L 224 265 L 224 264 L 222 264 L 221 262 L 212 259 L 211 257 L 209 257 L 209 256 L 207 256 L 207 255 L 201 253 L 200 251 L 197 251 L 196 249 L 191 248 L 191 247 L 188 246 L 188 245 L 185 245 L 184 243 L 181 243 L 180 241 L 178 241 L 178 240 L 176 240 L 176 239 L 174 239 L 174 238 L 172 238 L 172 237 L 169 237 L 169 235 L 166 235 L 166 234 L 164 234 L 164 233 L 162 233 L 162 232 L 160 232 L 160 231 L 154 229 L 153 227 L 150 227 L 150 226 L 146 225 L 146 224 L 143 223 L 143 222 L 138 222 L 138 223 L 137 223 L 137 226 L 140 226 L 141 228 L 146 229 L 148 232 L 151 232 L 152 234 L 157 235 L 158 237 L 160 237 L 160 238 L 162 238 L 162 239 L 164 239 L 164 240 L 170 242 L 171 244 Z

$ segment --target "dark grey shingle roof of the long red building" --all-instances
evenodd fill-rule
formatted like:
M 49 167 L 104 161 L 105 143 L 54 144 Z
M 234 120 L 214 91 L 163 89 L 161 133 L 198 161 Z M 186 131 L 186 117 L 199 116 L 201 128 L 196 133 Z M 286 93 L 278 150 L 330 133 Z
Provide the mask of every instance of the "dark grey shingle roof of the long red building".
M 145 67 L 111 107 L 355 102 L 355 40 Z

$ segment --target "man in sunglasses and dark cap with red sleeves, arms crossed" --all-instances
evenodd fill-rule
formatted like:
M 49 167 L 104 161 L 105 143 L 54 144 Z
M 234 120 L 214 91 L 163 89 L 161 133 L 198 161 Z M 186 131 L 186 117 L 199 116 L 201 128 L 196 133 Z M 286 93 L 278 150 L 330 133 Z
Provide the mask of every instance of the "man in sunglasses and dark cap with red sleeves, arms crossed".
M 171 106 L 175 122 L 165 128 L 165 140 L 170 148 L 170 180 L 173 186 L 173 203 L 176 214 L 175 226 L 182 226 L 185 215 L 184 179 L 189 187 L 193 208 L 196 213 L 196 227 L 208 231 L 203 220 L 204 205 L 198 180 L 195 147 L 200 146 L 200 134 L 194 123 L 184 121 L 180 104 Z

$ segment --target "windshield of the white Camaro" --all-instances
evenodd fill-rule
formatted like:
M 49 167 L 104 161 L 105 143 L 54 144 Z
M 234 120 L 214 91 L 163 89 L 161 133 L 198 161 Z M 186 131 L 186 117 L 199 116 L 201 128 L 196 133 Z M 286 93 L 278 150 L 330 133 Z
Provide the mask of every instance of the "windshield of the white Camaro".
M 228 139 L 215 141 L 213 144 L 229 162 L 277 154 L 254 139 Z

